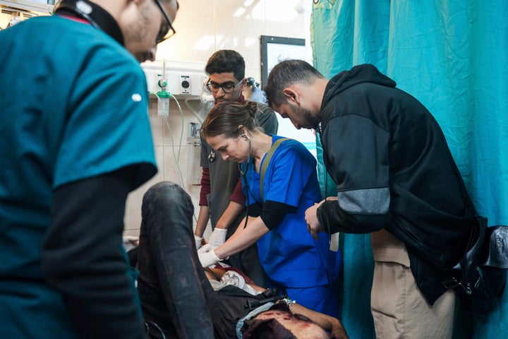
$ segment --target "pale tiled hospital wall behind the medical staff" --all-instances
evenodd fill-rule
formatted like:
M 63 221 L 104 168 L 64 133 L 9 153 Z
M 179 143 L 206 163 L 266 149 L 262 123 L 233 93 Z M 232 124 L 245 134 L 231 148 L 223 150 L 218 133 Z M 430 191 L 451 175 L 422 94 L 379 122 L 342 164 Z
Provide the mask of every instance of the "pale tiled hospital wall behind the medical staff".
M 159 44 L 157 61 L 143 64 L 145 69 L 157 67 L 164 59 L 167 68 L 178 70 L 179 65 L 191 64 L 195 73 L 202 71 L 205 76 L 203 69 L 213 52 L 235 49 L 246 60 L 246 76 L 259 81 L 260 35 L 305 38 L 309 44 L 310 8 L 302 11 L 303 1 L 179 0 L 179 4 L 174 23 L 176 35 Z M 157 80 L 148 75 L 149 89 L 157 88 Z M 192 85 L 202 87 L 202 83 Z M 194 223 L 198 217 L 200 147 L 188 140 L 188 131 L 190 123 L 200 124 L 199 117 L 204 117 L 212 104 L 203 103 L 195 95 L 175 95 L 175 98 L 178 102 L 170 100 L 169 117 L 163 118 L 157 115 L 157 96 L 150 95 L 150 124 L 159 172 L 129 195 L 124 235 L 138 236 L 143 194 L 152 184 L 163 180 L 179 183 L 186 189 L 195 206 Z M 210 227 L 207 229 L 205 237 L 210 232 Z

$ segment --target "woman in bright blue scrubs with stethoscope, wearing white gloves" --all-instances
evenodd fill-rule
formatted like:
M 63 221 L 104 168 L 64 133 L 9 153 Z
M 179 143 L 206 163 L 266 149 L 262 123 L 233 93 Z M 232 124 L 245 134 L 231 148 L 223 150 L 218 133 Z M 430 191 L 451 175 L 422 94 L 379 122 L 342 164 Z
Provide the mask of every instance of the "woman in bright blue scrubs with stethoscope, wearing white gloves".
M 327 237 L 314 239 L 304 218 L 306 209 L 322 200 L 315 157 L 292 139 L 275 148 L 282 137 L 255 126 L 255 109 L 255 102 L 223 102 L 202 124 L 207 143 L 224 160 L 238 163 L 248 215 L 224 244 L 198 251 L 201 264 L 211 266 L 257 242 L 270 287 L 279 287 L 305 307 L 339 316 L 341 254 L 329 250 Z M 273 154 L 267 159 L 270 149 Z

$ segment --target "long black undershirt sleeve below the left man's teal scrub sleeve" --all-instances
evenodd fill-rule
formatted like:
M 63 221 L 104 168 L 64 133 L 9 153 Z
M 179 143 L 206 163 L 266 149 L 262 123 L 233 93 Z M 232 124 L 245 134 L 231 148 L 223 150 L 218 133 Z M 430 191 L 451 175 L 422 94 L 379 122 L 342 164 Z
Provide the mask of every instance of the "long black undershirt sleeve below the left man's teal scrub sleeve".
M 145 338 L 121 251 L 134 170 L 124 167 L 54 191 L 41 265 L 83 338 Z

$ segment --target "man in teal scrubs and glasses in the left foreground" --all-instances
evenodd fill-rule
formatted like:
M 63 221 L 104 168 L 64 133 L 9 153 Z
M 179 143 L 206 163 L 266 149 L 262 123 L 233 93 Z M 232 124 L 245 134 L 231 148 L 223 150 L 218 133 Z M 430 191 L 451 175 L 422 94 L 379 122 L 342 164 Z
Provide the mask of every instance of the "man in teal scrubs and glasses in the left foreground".
M 139 62 L 177 10 L 62 0 L 0 31 L 0 338 L 145 338 L 123 215 L 157 172 Z

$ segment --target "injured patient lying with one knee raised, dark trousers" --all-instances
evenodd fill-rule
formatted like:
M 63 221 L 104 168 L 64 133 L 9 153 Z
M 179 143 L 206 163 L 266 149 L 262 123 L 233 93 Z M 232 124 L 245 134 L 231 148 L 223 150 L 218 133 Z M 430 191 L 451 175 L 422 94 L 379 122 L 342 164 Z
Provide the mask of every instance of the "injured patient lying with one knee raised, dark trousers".
M 243 273 L 204 270 L 193 204 L 178 185 L 152 186 L 142 216 L 138 292 L 150 338 L 348 338 L 338 319 L 255 286 Z M 219 283 L 225 273 L 229 280 Z

